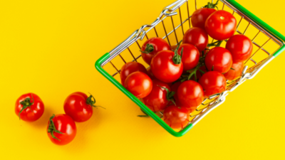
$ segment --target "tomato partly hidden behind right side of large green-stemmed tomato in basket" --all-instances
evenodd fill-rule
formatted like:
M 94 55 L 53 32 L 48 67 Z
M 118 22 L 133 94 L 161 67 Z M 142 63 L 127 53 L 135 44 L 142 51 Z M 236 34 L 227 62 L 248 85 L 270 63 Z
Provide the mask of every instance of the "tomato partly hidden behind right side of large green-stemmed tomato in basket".
M 183 48 L 182 63 L 183 70 L 191 70 L 199 63 L 199 50 L 192 44 L 182 44 L 177 53 L 181 55 Z

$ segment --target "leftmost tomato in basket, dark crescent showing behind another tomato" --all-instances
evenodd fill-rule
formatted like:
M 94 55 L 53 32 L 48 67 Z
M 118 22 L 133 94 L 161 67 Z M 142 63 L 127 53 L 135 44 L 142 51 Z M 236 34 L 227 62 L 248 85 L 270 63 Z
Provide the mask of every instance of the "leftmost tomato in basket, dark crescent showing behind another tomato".
M 134 73 L 140 71 L 142 73 L 147 74 L 147 69 L 140 63 L 137 62 L 129 62 L 125 63 L 123 67 L 120 69 L 120 82 L 125 87 L 125 79 L 130 75 L 130 73 Z

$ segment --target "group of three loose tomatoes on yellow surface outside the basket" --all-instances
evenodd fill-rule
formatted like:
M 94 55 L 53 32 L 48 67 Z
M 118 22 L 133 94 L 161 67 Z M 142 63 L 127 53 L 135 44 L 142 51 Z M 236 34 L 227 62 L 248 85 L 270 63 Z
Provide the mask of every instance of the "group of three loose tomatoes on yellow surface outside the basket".
M 74 92 L 69 95 L 63 105 L 66 114 L 53 114 L 48 120 L 46 132 L 51 142 L 58 145 L 72 142 L 77 132 L 75 122 L 86 122 L 90 119 L 93 107 L 98 107 L 94 104 L 95 98 L 92 95 L 88 97 L 83 92 Z M 36 121 L 43 115 L 43 111 L 43 101 L 34 93 L 21 95 L 16 100 L 16 115 L 26 122 Z

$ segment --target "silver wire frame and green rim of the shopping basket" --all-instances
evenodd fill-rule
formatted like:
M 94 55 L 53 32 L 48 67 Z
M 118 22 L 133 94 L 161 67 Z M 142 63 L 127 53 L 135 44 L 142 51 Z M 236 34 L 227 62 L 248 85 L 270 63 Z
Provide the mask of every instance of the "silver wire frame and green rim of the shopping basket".
M 108 80 L 110 80 L 110 82 L 113 82 L 113 84 L 116 87 L 118 87 L 122 92 L 124 92 L 125 95 L 130 97 L 130 99 L 133 100 L 133 102 L 135 102 L 144 112 L 146 112 L 148 115 L 150 115 L 150 117 L 152 117 L 152 119 L 155 119 L 155 121 L 157 123 L 159 123 L 162 127 L 164 127 L 167 130 L 167 132 L 170 132 L 170 134 L 174 135 L 175 137 L 181 137 L 182 135 L 187 133 L 204 116 L 206 116 L 209 112 L 214 110 L 214 108 L 218 107 L 219 105 L 222 105 L 222 103 L 226 100 L 226 96 L 229 94 L 229 92 L 234 91 L 239 85 L 241 85 L 246 80 L 254 78 L 257 75 L 257 73 L 259 73 L 259 71 L 262 68 L 264 68 L 265 65 L 267 65 L 271 60 L 273 60 L 283 50 L 285 50 L 285 46 L 284 46 L 285 37 L 284 36 L 282 36 L 280 33 L 278 33 L 273 28 L 268 26 L 266 23 L 261 21 L 259 18 L 257 18 L 257 16 L 254 16 L 254 14 L 247 11 L 247 9 L 244 9 L 244 7 L 242 7 L 236 1 L 234 1 L 234 0 L 220 0 L 220 1 L 223 3 L 222 9 L 224 9 L 224 6 L 226 5 L 230 9 L 233 10 L 232 14 L 239 14 L 239 16 L 241 16 L 241 19 L 237 20 L 237 21 L 239 21 L 237 24 L 237 32 L 238 33 L 245 34 L 247 31 L 247 28 L 250 26 L 250 24 L 252 24 L 252 26 L 254 26 L 255 28 L 257 28 L 259 30 L 257 35 L 254 36 L 254 38 L 252 39 L 252 42 L 254 43 L 254 45 L 258 47 L 258 50 L 255 53 L 257 53 L 259 50 L 263 50 L 265 53 L 267 53 L 269 55 L 269 57 L 264 59 L 264 60 L 261 60 L 259 63 L 257 63 L 252 59 L 252 57 L 255 55 L 255 53 L 253 53 L 252 56 L 248 60 L 251 60 L 255 65 L 252 68 L 248 68 L 246 65 L 244 67 L 244 70 L 242 72 L 242 76 L 240 78 L 238 78 L 237 80 L 234 80 L 232 82 L 228 82 L 228 86 L 227 86 L 226 91 L 224 91 L 220 94 L 210 96 L 209 100 L 205 99 L 204 102 L 202 103 L 202 105 L 200 105 L 200 106 L 204 106 L 204 107 L 202 107 L 202 109 L 201 109 L 201 107 L 198 107 L 198 109 L 197 109 L 197 111 L 199 111 L 199 114 L 190 115 L 191 117 L 194 117 L 194 118 L 189 122 L 189 124 L 187 124 L 186 127 L 182 128 L 179 132 L 176 132 L 175 130 L 171 129 L 165 122 L 162 121 L 162 119 L 160 119 L 160 117 L 158 117 L 154 112 L 152 112 L 150 109 L 148 109 L 142 102 L 140 102 L 140 100 L 138 100 L 138 98 L 136 98 L 130 92 L 128 92 L 128 90 L 126 90 L 125 87 L 120 85 L 120 82 L 118 82 L 117 80 L 115 80 L 113 78 L 113 76 L 120 73 L 120 70 L 118 70 L 118 68 L 116 68 L 115 65 L 113 65 L 113 63 L 110 60 L 113 60 L 113 58 L 115 58 L 116 56 L 119 55 L 120 58 L 122 58 L 122 60 L 125 62 L 124 58 L 120 55 L 120 53 L 122 53 L 123 50 L 126 50 L 126 49 L 128 49 L 130 54 L 133 56 L 133 59 L 134 59 L 133 61 L 136 61 L 138 58 L 140 58 L 141 55 L 139 55 L 138 57 L 135 58 L 135 56 L 131 52 L 129 46 L 131 46 L 133 43 L 137 43 L 138 47 L 140 48 L 138 40 L 142 40 L 143 38 L 145 38 L 145 36 L 147 37 L 147 32 L 149 32 L 152 29 L 155 30 L 155 33 L 157 35 L 157 31 L 156 31 L 155 26 L 157 26 L 158 23 L 162 23 L 162 25 L 164 27 L 165 37 L 163 37 L 163 38 L 164 39 L 167 38 L 168 43 L 170 43 L 168 36 L 174 32 L 176 41 L 178 43 L 177 35 L 176 35 L 177 28 L 179 28 L 181 26 L 183 34 L 185 33 L 183 26 L 182 26 L 183 23 L 189 22 L 189 25 L 191 28 L 191 23 L 190 23 L 191 15 L 189 13 L 188 0 L 178 0 L 178 1 L 175 1 L 173 4 L 166 6 L 165 9 L 162 10 L 160 16 L 158 16 L 152 24 L 144 25 L 144 26 L 140 27 L 138 30 L 136 30 L 134 33 L 132 33 L 125 41 L 123 41 L 123 43 L 120 43 L 119 46 L 115 47 L 109 53 L 106 53 L 105 55 L 103 55 L 95 63 L 95 68 L 102 75 L 104 75 L 105 78 L 108 78 Z M 185 3 L 187 4 L 188 18 L 186 18 L 184 21 L 182 21 L 180 6 L 182 6 Z M 197 0 L 195 0 L 195 9 L 197 9 Z M 180 14 L 180 25 L 175 27 L 175 25 L 173 23 L 172 16 L 175 16 L 178 14 L 177 10 Z M 165 20 L 165 18 L 167 18 L 167 17 L 171 18 L 172 27 L 173 27 L 173 30 L 170 31 L 169 33 L 167 33 L 167 31 L 165 29 L 165 24 L 163 22 L 163 20 Z M 247 28 L 242 33 L 241 31 L 238 30 L 238 28 L 239 28 L 239 24 L 241 23 L 241 21 L 243 19 L 248 21 L 249 24 L 247 25 Z M 254 39 L 261 32 L 264 33 L 269 38 L 269 40 L 266 41 L 261 46 L 259 46 L 257 43 L 254 42 Z M 148 39 L 148 37 L 147 37 L 147 39 Z M 263 48 L 263 46 L 266 43 L 268 43 L 270 40 L 274 41 L 276 44 L 279 45 L 279 48 L 273 54 L 270 54 L 267 50 L 265 50 Z M 246 63 L 247 63 L 247 61 L 246 61 Z M 110 75 L 109 73 L 107 73 L 103 69 L 103 66 L 106 65 L 107 63 L 110 63 L 111 65 L 113 65 L 113 67 L 115 68 L 115 70 L 117 70 L 117 72 L 114 73 L 113 75 Z M 162 112 L 161 112 L 161 114 L 162 114 Z

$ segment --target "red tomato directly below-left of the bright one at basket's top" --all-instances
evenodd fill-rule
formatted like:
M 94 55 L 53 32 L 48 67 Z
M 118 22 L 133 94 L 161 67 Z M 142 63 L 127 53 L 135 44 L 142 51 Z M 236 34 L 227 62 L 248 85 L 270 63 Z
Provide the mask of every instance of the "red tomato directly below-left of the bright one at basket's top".
M 199 51 L 202 51 L 207 47 L 208 34 L 202 28 L 190 28 L 183 36 L 183 43 L 192 44 L 193 46 L 197 47 Z

